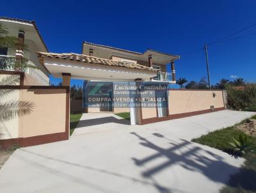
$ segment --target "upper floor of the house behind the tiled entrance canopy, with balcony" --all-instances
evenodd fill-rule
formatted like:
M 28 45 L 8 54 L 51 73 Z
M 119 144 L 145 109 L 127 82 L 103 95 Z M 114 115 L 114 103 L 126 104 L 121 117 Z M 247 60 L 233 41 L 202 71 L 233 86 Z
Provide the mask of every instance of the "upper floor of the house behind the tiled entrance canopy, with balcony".
M 180 56 L 166 54 L 152 49 L 145 50 L 143 53 L 134 52 L 89 42 L 83 42 L 82 54 L 154 68 L 159 70 L 159 72 L 157 72 L 156 77 L 148 81 L 161 81 L 169 84 L 176 83 L 174 61 L 179 59 Z M 168 64 L 171 66 L 170 69 L 166 66 Z

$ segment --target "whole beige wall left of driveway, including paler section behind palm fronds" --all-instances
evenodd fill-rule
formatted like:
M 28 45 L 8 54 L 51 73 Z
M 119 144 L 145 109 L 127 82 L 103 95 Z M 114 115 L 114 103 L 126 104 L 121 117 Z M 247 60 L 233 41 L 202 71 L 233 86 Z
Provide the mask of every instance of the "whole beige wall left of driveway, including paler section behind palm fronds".
M 65 132 L 66 89 L 10 89 L 1 102 L 22 101 L 33 104 L 32 112 L 0 123 L 0 139 L 34 137 Z

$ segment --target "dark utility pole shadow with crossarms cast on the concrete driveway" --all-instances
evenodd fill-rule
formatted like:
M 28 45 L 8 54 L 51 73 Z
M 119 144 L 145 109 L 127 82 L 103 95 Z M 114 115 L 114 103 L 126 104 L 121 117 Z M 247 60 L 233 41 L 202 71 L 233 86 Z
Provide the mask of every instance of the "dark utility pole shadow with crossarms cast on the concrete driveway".
M 145 178 L 153 179 L 152 177 L 154 174 L 159 173 L 160 171 L 163 171 L 166 169 L 166 167 L 170 167 L 173 164 L 179 164 L 180 166 L 184 167 L 185 169 L 188 169 L 190 171 L 196 171 L 199 173 L 204 174 L 207 178 L 211 179 L 212 181 L 221 182 L 221 183 L 228 183 L 229 186 L 233 187 L 242 187 L 245 190 L 255 191 L 256 190 L 256 183 L 255 185 L 248 185 L 248 180 L 255 181 L 255 179 L 248 179 L 244 178 L 244 180 L 237 181 L 233 179 L 234 176 L 237 176 L 237 174 L 234 174 L 231 176 L 230 180 L 228 181 L 226 175 L 222 175 L 225 172 L 230 171 L 239 171 L 237 167 L 231 166 L 227 164 L 226 162 L 223 162 L 223 158 L 219 155 L 216 155 L 215 153 L 212 153 L 211 151 L 203 150 L 202 148 L 196 146 L 192 147 L 189 146 L 191 144 L 190 141 L 186 141 L 182 139 L 182 143 L 173 143 L 171 139 L 168 139 L 164 137 L 162 134 L 153 134 L 156 137 L 164 138 L 168 141 L 171 141 L 170 144 L 172 146 L 170 148 L 161 148 L 157 146 L 154 143 L 151 143 L 148 141 L 145 137 L 141 137 L 140 135 L 136 134 L 136 132 L 131 132 L 132 135 L 135 135 L 140 139 L 140 144 L 142 146 L 145 146 L 147 148 L 153 149 L 157 151 L 153 155 L 150 155 L 148 157 L 138 159 L 138 158 L 132 158 L 134 160 L 134 163 L 137 166 L 145 166 L 148 162 L 152 162 L 160 157 L 166 157 L 167 161 L 163 164 L 159 164 L 155 167 L 147 169 L 147 171 L 144 171 L 141 173 L 141 175 Z M 164 140 L 163 139 L 163 140 Z M 186 148 L 186 151 L 184 152 L 184 147 Z M 182 151 L 179 151 L 181 150 Z M 177 153 L 177 150 L 179 153 Z M 175 153 L 176 152 L 176 153 Z M 182 152 L 182 153 L 181 153 Z M 241 169 L 240 169 L 241 173 Z M 244 174 L 250 173 L 250 176 L 256 176 L 255 171 L 252 169 L 246 169 L 246 171 L 243 172 Z M 253 174 L 252 174 L 253 173 Z M 243 177 L 246 177 L 243 175 Z M 231 180 L 234 180 L 233 183 L 231 183 Z M 156 185 L 157 187 L 157 185 Z M 158 186 L 157 189 L 159 192 L 168 192 L 167 189 L 161 188 L 161 186 Z

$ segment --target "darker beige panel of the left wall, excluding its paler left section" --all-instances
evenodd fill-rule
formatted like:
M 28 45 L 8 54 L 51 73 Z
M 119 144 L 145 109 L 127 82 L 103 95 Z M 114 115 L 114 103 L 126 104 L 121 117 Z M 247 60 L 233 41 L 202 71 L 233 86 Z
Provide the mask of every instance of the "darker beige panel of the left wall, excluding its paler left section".
M 66 89 L 22 89 L 20 100 L 35 107 L 19 119 L 19 137 L 65 132 Z

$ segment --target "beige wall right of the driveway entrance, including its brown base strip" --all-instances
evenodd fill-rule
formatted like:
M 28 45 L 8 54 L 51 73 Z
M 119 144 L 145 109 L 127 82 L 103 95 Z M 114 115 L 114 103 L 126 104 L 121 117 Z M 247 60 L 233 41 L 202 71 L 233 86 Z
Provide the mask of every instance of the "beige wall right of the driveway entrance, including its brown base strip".
M 213 94 L 214 93 L 214 94 Z M 141 94 L 141 97 L 145 97 Z M 168 90 L 168 111 L 167 117 L 157 118 L 156 107 L 143 107 L 141 108 L 142 120 L 145 123 L 154 123 L 156 121 L 168 120 L 174 118 L 173 115 L 183 114 L 184 116 L 191 116 L 186 114 L 188 112 L 195 112 L 201 114 L 211 112 L 211 105 L 217 110 L 223 110 L 225 107 L 223 102 L 223 93 L 220 90 L 187 90 L 187 89 L 171 89 Z M 222 108 L 222 109 L 218 109 Z M 181 117 L 184 117 L 181 116 Z M 179 118 L 180 116 L 175 116 Z

